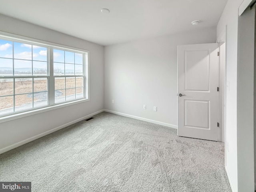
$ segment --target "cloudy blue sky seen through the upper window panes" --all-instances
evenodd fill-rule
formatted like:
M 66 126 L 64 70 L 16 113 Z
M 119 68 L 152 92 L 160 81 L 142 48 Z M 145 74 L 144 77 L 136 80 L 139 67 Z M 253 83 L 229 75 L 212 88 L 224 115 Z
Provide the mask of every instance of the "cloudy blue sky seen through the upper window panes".
M 14 51 L 14 52 L 13 52 Z M 47 68 L 47 48 L 0 39 L 0 68 Z M 54 49 L 54 68 L 66 72 L 82 72 L 82 54 Z M 28 70 L 27 70 L 28 71 Z

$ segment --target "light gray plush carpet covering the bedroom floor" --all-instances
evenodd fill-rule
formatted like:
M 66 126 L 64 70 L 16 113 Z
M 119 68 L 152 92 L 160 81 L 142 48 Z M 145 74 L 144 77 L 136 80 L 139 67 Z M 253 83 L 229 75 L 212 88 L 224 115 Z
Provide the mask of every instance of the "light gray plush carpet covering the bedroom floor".
M 0 155 L 0 181 L 33 192 L 231 192 L 224 144 L 102 112 Z

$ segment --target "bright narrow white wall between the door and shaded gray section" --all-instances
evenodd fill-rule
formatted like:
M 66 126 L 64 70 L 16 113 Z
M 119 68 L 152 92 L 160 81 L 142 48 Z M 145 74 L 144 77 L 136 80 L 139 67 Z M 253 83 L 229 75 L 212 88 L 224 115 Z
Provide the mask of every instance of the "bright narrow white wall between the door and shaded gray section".
M 227 25 L 226 38 L 226 171 L 234 192 L 237 183 L 237 126 L 236 126 L 236 87 L 237 87 L 237 39 L 238 7 L 242 0 L 228 0 L 217 25 L 217 39 Z M 228 146 L 228 147 L 227 147 Z

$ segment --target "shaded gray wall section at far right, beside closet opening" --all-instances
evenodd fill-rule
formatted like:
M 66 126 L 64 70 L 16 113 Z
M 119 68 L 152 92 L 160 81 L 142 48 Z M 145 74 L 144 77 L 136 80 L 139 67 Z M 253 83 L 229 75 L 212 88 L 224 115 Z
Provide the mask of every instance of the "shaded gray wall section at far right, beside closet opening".
M 248 192 L 254 191 L 254 23 L 255 8 L 238 18 L 238 191 Z

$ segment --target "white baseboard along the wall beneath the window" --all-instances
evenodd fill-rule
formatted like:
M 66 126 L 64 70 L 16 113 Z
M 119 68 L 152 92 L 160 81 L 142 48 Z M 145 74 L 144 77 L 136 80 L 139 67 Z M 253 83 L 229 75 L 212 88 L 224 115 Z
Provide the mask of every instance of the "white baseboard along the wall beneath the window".
M 84 119 L 90 118 L 91 116 L 94 116 L 94 115 L 96 115 L 96 114 L 98 114 L 98 113 L 101 113 L 101 112 L 103 112 L 103 111 L 104 111 L 104 110 L 99 110 L 99 111 L 94 112 L 94 113 L 92 113 L 92 114 L 86 115 L 86 116 L 84 116 L 84 117 L 82 117 L 82 118 L 76 119 L 76 120 L 74 120 L 74 121 L 72 121 L 72 122 L 66 123 L 66 124 L 64 124 L 64 125 L 58 126 L 58 127 L 53 128 L 53 129 L 51 129 L 51 130 L 48 130 L 48 131 L 46 131 L 46 132 L 40 133 L 40 134 L 38 134 L 38 135 L 36 135 L 36 136 L 30 137 L 30 138 L 25 139 L 25 140 L 23 140 L 23 141 L 20 141 L 20 142 L 18 142 L 18 143 L 15 143 L 15 144 L 12 144 L 12 145 L 7 146 L 7 147 L 5 147 L 5 148 L 2 148 L 2 149 L 0 149 L 0 154 L 4 153 L 4 152 L 6 152 L 6 151 L 12 150 L 12 149 L 14 149 L 14 148 L 16 148 L 16 147 L 22 146 L 22 145 L 24 145 L 24 144 L 26 144 L 26 143 L 28 143 L 28 142 L 31 142 L 31 141 L 33 141 L 33 140 L 36 140 L 36 139 L 40 138 L 40 137 L 46 136 L 46 135 L 48 135 L 48 134 L 50 134 L 50 133 L 53 133 L 53 132 L 55 132 L 55 131 L 57 131 L 57 130 L 60 130 L 60 129 L 64 128 L 64 127 L 70 126 L 70 125 L 72 125 L 72 124 L 74 124 L 74 123 L 77 123 L 77 122 L 82 121 L 82 120 L 84 120 Z

